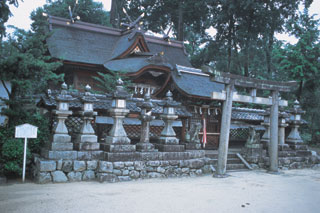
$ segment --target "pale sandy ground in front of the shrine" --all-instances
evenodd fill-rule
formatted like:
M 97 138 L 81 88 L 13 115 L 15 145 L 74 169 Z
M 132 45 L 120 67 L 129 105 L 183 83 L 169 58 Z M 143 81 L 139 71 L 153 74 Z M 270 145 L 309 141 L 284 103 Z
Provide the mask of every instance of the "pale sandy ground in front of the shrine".
M 320 170 L 122 183 L 10 183 L 0 212 L 320 212 Z

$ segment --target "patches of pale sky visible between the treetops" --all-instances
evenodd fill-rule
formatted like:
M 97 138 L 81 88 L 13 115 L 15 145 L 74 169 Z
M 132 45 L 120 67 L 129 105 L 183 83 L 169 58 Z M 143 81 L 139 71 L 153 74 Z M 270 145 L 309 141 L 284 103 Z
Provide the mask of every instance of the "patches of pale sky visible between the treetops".
M 96 2 L 102 2 L 104 9 L 110 11 L 111 8 L 111 0 L 94 0 Z M 43 6 L 46 3 L 46 0 L 24 0 L 21 2 L 19 0 L 19 7 L 16 8 L 14 6 L 10 6 L 11 12 L 13 14 L 12 17 L 9 18 L 7 25 L 14 25 L 15 27 L 22 28 L 25 30 L 30 29 L 31 20 L 30 13 L 38 7 Z M 313 0 L 313 3 L 309 9 L 309 14 L 320 14 L 320 0 Z M 320 16 L 316 16 L 316 18 L 320 18 Z M 13 30 L 7 29 L 7 32 L 10 33 Z M 210 33 L 210 31 L 209 31 Z M 211 34 L 214 31 L 211 32 Z M 295 43 L 297 40 L 294 37 L 290 37 L 287 34 L 277 34 L 277 39 L 285 40 L 290 43 Z

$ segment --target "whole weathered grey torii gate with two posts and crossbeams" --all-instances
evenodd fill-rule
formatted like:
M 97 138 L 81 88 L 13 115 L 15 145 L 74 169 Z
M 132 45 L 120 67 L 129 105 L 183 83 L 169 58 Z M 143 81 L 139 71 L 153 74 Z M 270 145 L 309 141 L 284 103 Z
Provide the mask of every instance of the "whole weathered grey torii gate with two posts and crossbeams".
M 206 68 L 208 69 L 208 67 Z M 209 68 L 210 69 L 210 68 Z M 212 92 L 211 98 L 214 100 L 223 101 L 222 118 L 221 118 L 221 131 L 219 140 L 219 154 L 218 154 L 218 168 L 217 177 L 223 177 L 226 173 L 227 156 L 229 146 L 229 133 L 231 123 L 231 111 L 233 102 L 254 103 L 271 105 L 270 116 L 270 144 L 269 159 L 270 159 L 270 172 L 278 172 L 278 117 L 279 106 L 288 106 L 288 101 L 279 100 L 279 92 L 293 91 L 297 83 L 290 82 L 276 82 L 259 80 L 254 78 L 243 77 L 239 75 L 213 72 L 209 70 L 211 81 L 225 84 L 225 90 L 222 92 Z M 250 95 L 239 95 L 234 91 L 234 87 L 251 88 Z M 271 90 L 272 98 L 257 97 L 257 89 Z

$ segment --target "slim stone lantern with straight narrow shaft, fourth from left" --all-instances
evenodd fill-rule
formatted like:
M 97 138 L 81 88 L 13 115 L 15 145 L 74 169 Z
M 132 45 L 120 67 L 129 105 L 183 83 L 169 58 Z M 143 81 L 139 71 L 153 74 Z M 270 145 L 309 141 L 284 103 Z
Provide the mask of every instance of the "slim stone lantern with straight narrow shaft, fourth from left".
M 137 104 L 141 108 L 141 135 L 140 142 L 136 144 L 138 151 L 155 151 L 154 145 L 150 143 L 150 121 L 155 119 L 155 116 L 151 115 L 152 108 L 154 105 L 150 100 L 150 94 L 146 93 L 144 96 L 144 101 Z

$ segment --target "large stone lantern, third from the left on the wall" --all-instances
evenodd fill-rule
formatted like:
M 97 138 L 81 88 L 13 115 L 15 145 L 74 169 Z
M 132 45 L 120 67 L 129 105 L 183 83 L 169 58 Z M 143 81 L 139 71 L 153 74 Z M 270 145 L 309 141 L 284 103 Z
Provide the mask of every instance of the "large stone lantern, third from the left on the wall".
M 105 138 L 105 143 L 101 144 L 104 151 L 108 152 L 129 152 L 135 151 L 135 145 L 130 145 L 130 139 L 123 127 L 123 119 L 129 113 L 126 108 L 126 99 L 131 95 L 123 87 L 123 81 L 117 80 L 116 90 L 112 94 L 112 105 L 109 109 L 113 117 L 113 126 Z

